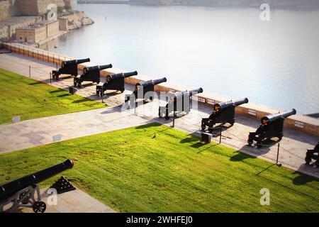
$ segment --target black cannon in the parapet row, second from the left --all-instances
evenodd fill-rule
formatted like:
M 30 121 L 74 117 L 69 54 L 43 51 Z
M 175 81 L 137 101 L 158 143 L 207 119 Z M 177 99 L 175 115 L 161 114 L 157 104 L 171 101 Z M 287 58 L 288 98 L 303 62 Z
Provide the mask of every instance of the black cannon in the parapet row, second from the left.
M 99 84 L 101 82 L 101 70 L 111 68 L 109 65 L 96 65 L 92 67 L 84 67 L 83 74 L 80 77 L 74 77 L 74 87 L 80 87 L 82 82 L 90 81 Z

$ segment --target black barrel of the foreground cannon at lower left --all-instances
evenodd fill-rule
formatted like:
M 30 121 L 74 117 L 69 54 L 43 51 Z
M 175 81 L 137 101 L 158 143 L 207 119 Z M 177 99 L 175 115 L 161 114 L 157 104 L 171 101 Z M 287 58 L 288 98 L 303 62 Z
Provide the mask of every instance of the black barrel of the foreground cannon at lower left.
M 26 187 L 32 184 L 38 184 L 40 182 L 43 182 L 45 179 L 59 174 L 60 172 L 71 169 L 73 165 L 73 161 L 68 159 L 60 164 L 53 165 L 52 167 L 40 170 L 31 175 L 27 175 L 25 177 L 15 179 L 9 183 L 0 185 L 0 201 L 8 198 L 9 196 L 15 194 L 16 192 L 22 189 L 25 189 Z

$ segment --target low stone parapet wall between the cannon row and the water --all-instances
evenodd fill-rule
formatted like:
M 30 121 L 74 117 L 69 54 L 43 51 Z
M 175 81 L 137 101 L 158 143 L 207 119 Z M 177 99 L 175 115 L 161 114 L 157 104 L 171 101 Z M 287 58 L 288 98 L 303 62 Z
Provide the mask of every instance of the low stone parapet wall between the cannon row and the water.
M 38 48 L 33 48 L 27 45 L 21 45 L 18 43 L 2 43 L 2 46 L 7 50 L 11 50 L 12 52 L 17 52 L 22 55 L 27 55 L 29 57 L 35 57 L 39 60 L 44 60 L 46 62 L 56 63 L 58 66 L 61 65 L 61 62 L 64 60 L 72 60 L 74 57 L 68 57 L 65 55 L 59 55 L 54 52 L 47 52 L 45 50 L 40 50 Z M 86 62 L 85 64 L 79 65 L 79 70 L 83 70 L 84 67 L 97 65 L 94 62 Z M 135 70 L 135 69 L 134 69 Z M 123 72 L 123 70 L 111 68 L 107 70 L 102 70 L 101 75 L 106 76 L 108 74 Z M 125 82 L 128 84 L 135 85 L 140 81 L 154 79 L 152 77 L 147 77 L 142 74 L 138 74 L 138 76 L 128 77 L 125 78 Z M 170 84 L 169 82 L 162 83 L 160 85 L 155 86 L 155 91 L 157 92 L 181 92 L 184 90 L 190 90 L 194 88 L 190 87 L 181 87 L 175 84 Z M 197 87 L 196 87 L 197 89 Z M 221 94 L 216 94 L 212 92 L 203 92 L 202 94 L 196 95 L 198 101 L 208 106 L 213 106 L 213 104 L 218 103 L 220 101 L 228 101 L 233 99 L 228 96 L 223 96 Z M 245 98 L 245 95 L 242 97 L 238 97 L 238 99 Z M 247 97 L 249 99 L 249 97 Z M 237 98 L 236 98 L 237 99 Z M 242 106 L 238 106 L 236 108 L 236 114 L 240 114 L 243 116 L 248 116 L 250 118 L 257 118 L 260 119 L 262 116 L 266 116 L 269 114 L 276 114 L 283 110 L 270 108 L 268 106 L 262 106 L 259 104 L 243 104 Z M 294 115 L 290 116 L 286 119 L 284 126 L 286 128 L 292 128 L 297 131 L 303 131 L 306 133 L 310 133 L 312 135 L 319 136 L 319 120 L 316 118 L 311 118 L 309 116 L 302 116 L 302 115 Z

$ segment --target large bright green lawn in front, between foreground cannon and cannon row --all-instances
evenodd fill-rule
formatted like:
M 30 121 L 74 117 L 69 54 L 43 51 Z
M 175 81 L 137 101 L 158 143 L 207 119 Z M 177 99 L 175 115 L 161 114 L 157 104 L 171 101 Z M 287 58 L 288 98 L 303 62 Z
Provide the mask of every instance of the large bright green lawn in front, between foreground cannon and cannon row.
M 0 155 L 0 184 L 67 158 L 62 175 L 116 211 L 319 211 L 317 179 L 157 123 Z

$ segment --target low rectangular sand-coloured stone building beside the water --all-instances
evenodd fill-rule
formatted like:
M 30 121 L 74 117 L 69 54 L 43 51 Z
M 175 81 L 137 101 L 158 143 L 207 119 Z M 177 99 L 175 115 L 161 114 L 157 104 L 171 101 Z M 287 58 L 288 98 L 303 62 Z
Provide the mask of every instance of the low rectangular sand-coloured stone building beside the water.
M 39 43 L 59 33 L 59 21 L 40 21 L 34 26 L 16 29 L 16 40 Z

